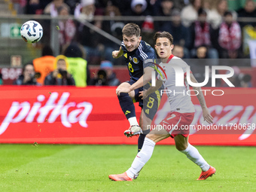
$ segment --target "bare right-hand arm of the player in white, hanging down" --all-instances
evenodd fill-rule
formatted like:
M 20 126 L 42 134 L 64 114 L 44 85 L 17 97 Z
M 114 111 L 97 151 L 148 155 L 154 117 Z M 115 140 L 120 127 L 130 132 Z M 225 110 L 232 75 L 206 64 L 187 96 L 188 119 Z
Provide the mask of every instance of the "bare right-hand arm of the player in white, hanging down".
M 190 73 L 190 80 L 193 82 L 193 83 L 198 83 L 197 82 L 197 79 L 194 77 L 194 75 L 192 73 Z M 207 106 L 206 106 L 206 100 L 205 100 L 205 97 L 203 96 L 203 93 L 202 93 L 202 90 L 201 90 L 201 87 L 193 87 L 194 90 L 197 90 L 197 99 L 199 100 L 200 102 L 200 105 L 201 105 L 201 108 L 203 110 L 203 118 L 204 120 L 206 120 L 208 123 L 213 123 L 213 117 L 212 115 L 210 114 Z

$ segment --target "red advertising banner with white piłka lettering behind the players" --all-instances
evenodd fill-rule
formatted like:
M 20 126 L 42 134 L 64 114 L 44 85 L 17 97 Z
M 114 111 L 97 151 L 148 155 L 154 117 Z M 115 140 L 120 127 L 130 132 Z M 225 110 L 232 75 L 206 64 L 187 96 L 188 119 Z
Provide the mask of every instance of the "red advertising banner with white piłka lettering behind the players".
M 219 88 L 218 88 L 219 89 Z M 214 125 L 233 130 L 219 134 L 193 130 L 194 145 L 256 145 L 256 89 L 204 88 L 206 102 Z M 222 96 L 221 95 L 224 92 Z M 192 95 L 192 93 L 191 93 Z M 202 125 L 203 117 L 197 96 L 192 96 L 196 114 L 194 125 Z M 129 127 L 122 113 L 115 87 L 0 87 L 1 143 L 62 144 L 136 144 L 137 137 L 127 139 L 123 131 Z M 154 123 L 168 111 L 163 95 Z M 141 109 L 136 105 L 137 116 Z M 250 128 L 250 129 L 249 129 Z M 235 132 L 240 130 L 239 134 Z M 165 139 L 160 144 L 173 144 Z

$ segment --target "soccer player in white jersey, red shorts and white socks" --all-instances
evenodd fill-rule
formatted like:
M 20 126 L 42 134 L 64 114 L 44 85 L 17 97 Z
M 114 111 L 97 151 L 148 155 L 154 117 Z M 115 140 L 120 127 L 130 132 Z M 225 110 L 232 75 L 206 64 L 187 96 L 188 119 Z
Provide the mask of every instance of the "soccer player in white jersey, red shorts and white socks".
M 164 77 L 165 75 L 157 75 L 156 86 L 145 90 L 144 93 L 142 93 L 142 96 L 144 99 L 147 98 L 150 93 L 153 93 L 154 90 L 157 90 L 163 84 L 166 93 L 168 93 L 167 96 L 171 106 L 170 113 L 160 122 L 159 126 L 156 126 L 156 129 L 152 130 L 151 133 L 146 136 L 142 150 L 136 155 L 130 169 L 120 175 L 108 175 L 108 178 L 113 181 L 133 181 L 145 163 L 147 163 L 151 158 L 156 143 L 171 136 L 175 140 L 175 147 L 178 149 L 178 151 L 181 151 L 181 153 L 185 154 L 188 159 L 192 160 L 202 169 L 201 175 L 199 178 L 197 178 L 197 180 L 204 180 L 215 174 L 216 170 L 203 159 L 199 151 L 197 151 L 197 148 L 190 145 L 188 142 L 189 129 L 181 130 L 182 126 L 189 126 L 190 123 L 192 123 L 195 111 L 190 95 L 186 94 L 187 90 L 189 90 L 189 85 L 187 84 L 185 78 L 187 75 L 187 63 L 172 55 L 172 49 L 174 47 L 172 44 L 173 38 L 169 32 L 157 32 L 154 35 L 154 41 L 154 47 L 161 59 L 160 66 L 162 66 L 166 72 L 166 77 Z M 175 86 L 175 70 L 173 69 L 175 65 L 178 65 L 181 69 L 183 69 L 184 87 Z M 190 80 L 197 83 L 197 80 L 194 78 L 192 72 L 190 72 Z M 204 120 L 206 120 L 208 123 L 212 123 L 213 117 L 209 113 L 200 87 L 193 88 L 195 92 L 198 93 L 197 98 L 199 99 L 201 108 L 203 110 Z M 172 129 L 173 126 L 178 127 L 178 129 Z

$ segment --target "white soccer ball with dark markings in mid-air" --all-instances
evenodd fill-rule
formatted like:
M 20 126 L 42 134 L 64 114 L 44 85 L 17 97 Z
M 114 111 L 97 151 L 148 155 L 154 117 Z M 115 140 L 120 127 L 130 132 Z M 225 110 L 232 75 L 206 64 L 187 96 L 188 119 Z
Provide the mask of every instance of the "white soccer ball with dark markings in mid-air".
M 43 36 L 43 28 L 35 20 L 29 20 L 21 26 L 20 35 L 29 44 L 40 41 Z

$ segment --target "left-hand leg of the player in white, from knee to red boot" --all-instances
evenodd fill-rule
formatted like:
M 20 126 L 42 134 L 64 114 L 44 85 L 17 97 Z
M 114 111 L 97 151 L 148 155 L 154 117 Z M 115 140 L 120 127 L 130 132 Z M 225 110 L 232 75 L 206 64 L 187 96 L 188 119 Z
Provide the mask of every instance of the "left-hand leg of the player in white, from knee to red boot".
M 113 181 L 133 181 L 145 163 L 151 158 L 156 143 L 168 137 L 169 133 L 163 130 L 162 126 L 159 126 L 156 130 L 152 130 L 151 133 L 146 136 L 142 150 L 136 155 L 130 169 L 120 175 L 108 175 L 108 177 Z

